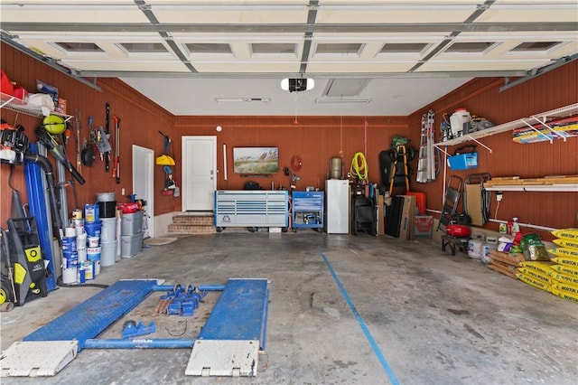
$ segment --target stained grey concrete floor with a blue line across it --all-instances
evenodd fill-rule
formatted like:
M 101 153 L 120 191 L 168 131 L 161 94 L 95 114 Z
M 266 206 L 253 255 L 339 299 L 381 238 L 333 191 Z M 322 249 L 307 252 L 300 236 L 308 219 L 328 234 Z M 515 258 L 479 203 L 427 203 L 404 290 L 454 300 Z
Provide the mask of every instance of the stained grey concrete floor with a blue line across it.
M 329 263 L 326 264 L 325 260 Z M 331 267 L 331 268 L 330 268 Z M 339 280 L 338 285 L 335 277 Z M 254 378 L 193 378 L 190 350 L 84 350 L 53 378 L 3 384 L 574 384 L 578 305 L 504 277 L 437 241 L 225 230 L 144 249 L 94 283 L 154 277 L 167 284 L 270 280 L 268 368 Z M 341 289 L 340 289 L 341 287 Z M 2 316 L 2 349 L 89 296 L 62 287 Z M 194 337 L 216 296 L 185 324 L 150 315 L 154 293 L 128 315 L 153 337 Z M 348 302 L 349 301 L 349 302 Z M 103 337 L 120 338 L 122 323 Z

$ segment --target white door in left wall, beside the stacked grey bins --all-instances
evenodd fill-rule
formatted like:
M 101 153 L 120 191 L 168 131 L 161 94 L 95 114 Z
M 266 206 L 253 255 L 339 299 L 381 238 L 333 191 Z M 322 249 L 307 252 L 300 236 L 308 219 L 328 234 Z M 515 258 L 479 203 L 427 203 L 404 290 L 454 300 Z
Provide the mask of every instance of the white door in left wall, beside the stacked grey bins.
M 133 192 L 146 201 L 144 238 L 154 237 L 154 150 L 133 145 Z

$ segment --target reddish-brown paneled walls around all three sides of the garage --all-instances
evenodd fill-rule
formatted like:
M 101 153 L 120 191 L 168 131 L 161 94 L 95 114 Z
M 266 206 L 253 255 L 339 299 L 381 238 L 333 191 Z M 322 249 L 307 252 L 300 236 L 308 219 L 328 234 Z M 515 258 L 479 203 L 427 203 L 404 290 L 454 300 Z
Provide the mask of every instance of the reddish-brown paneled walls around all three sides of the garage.
M 442 99 L 415 111 L 409 117 L 173 117 L 168 111 L 125 83 L 115 79 L 98 79 L 102 92 L 92 89 L 79 81 L 52 70 L 40 61 L 6 46 L 2 48 L 2 69 L 11 80 L 26 89 L 33 89 L 35 81 L 43 80 L 59 88 L 61 97 L 68 100 L 70 115 L 78 109 L 81 114 L 81 138 L 88 136 L 88 117 L 94 119 L 93 125 L 104 125 L 105 103 L 110 103 L 111 115 L 121 118 L 120 158 L 121 183 L 115 183 L 112 173 L 105 173 L 104 164 L 98 159 L 92 167 L 82 167 L 82 175 L 87 180 L 84 185 L 77 183 L 79 206 L 94 202 L 97 192 L 116 192 L 118 202 L 126 202 L 120 196 L 121 189 L 126 193 L 132 190 L 132 145 L 154 149 L 155 155 L 163 153 L 163 136 L 171 136 L 173 155 L 177 162 L 174 177 L 179 183 L 181 178 L 180 162 L 182 136 L 217 136 L 218 148 L 218 188 L 240 189 L 250 178 L 241 178 L 232 170 L 232 149 L 235 146 L 278 146 L 280 168 L 290 166 L 291 158 L 299 156 L 303 161 L 302 169 L 295 173 L 301 177 L 298 189 L 306 186 L 323 188 L 327 177 L 329 161 L 332 157 L 342 156 L 344 172 L 350 169 L 351 159 L 357 152 L 363 152 L 368 162 L 369 179 L 380 183 L 378 154 L 391 143 L 392 136 L 408 136 L 417 149 L 420 142 L 421 116 L 432 108 L 436 114 L 436 129 L 443 114 L 451 115 L 455 108 L 467 108 L 471 114 L 487 117 L 495 124 L 505 123 L 519 117 L 527 117 L 552 108 L 559 108 L 578 101 L 578 62 L 573 61 L 563 67 L 552 70 L 535 80 L 529 80 L 512 89 L 499 92 L 503 79 L 471 80 L 460 89 L 452 91 Z M 27 135 L 35 141 L 34 128 L 41 124 L 40 119 L 16 115 L 2 109 L 2 118 L 11 124 L 22 124 Z M 217 132 L 216 127 L 222 127 Z M 112 128 L 112 127 L 111 127 Z M 113 130 L 114 134 L 114 130 Z M 437 134 L 439 138 L 439 132 Z M 578 174 L 578 138 L 566 142 L 556 140 L 532 145 L 518 145 L 508 133 L 483 138 L 482 142 L 492 148 L 492 153 L 478 147 L 479 167 L 471 171 L 452 172 L 462 178 L 473 173 L 489 173 L 493 176 L 519 175 L 521 177 L 539 177 L 548 174 Z M 223 173 L 223 144 L 227 145 L 228 181 Z M 67 146 L 70 160 L 74 163 L 76 145 L 71 139 Z M 452 147 L 449 148 L 452 151 Z M 51 155 L 49 155 L 51 158 Z M 417 170 L 417 159 L 411 164 Z M 0 223 L 5 226 L 10 216 L 10 189 L 8 174 L 10 167 L 0 165 Z M 156 170 L 155 170 L 156 171 Z M 280 184 L 288 187 L 289 177 L 280 170 L 272 178 L 253 178 L 264 188 L 275 188 Z M 159 215 L 182 210 L 180 198 L 164 196 L 164 174 L 159 166 L 154 174 L 155 204 L 154 214 Z M 23 167 L 14 168 L 12 181 L 14 188 L 20 190 L 26 202 L 26 187 L 23 179 Z M 415 174 L 411 180 L 411 190 L 426 192 L 427 207 L 441 210 L 443 201 L 443 177 L 435 183 L 416 183 Z M 517 216 L 523 223 L 564 228 L 578 226 L 578 194 L 574 192 L 504 192 L 498 218 L 508 220 Z M 68 188 L 70 211 L 74 208 L 74 195 Z M 125 200 L 125 201 L 124 201 Z M 495 197 L 491 202 L 491 217 L 496 209 Z M 497 229 L 497 224 L 489 223 L 489 229 Z

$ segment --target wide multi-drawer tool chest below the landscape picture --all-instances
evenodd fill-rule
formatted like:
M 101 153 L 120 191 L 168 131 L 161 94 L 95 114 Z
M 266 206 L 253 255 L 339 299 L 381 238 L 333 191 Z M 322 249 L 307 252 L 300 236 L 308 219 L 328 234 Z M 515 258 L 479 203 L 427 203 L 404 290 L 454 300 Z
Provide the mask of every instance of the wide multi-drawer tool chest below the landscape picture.
M 215 192 L 217 227 L 287 227 L 288 192 L 219 190 Z

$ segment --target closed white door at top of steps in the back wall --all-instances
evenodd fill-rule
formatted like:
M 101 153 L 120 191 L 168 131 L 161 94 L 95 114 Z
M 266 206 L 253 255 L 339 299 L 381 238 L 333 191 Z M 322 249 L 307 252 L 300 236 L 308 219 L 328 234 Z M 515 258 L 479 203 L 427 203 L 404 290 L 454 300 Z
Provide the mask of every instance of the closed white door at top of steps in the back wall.
M 213 211 L 217 136 L 182 136 L 182 211 Z

